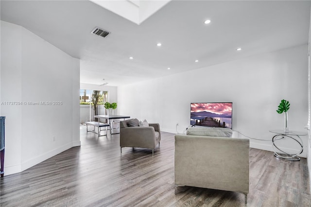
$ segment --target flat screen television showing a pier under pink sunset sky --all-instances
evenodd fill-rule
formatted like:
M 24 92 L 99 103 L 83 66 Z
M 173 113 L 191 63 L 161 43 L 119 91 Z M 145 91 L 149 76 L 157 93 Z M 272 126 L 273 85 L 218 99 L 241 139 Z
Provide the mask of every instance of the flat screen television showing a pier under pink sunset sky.
M 223 127 L 232 129 L 232 102 L 191 103 L 192 126 Z

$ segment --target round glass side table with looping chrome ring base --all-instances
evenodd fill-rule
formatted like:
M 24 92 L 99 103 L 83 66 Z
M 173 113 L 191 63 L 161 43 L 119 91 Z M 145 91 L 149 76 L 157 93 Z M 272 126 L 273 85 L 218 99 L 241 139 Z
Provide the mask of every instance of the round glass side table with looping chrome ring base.
M 300 158 L 298 157 L 298 155 L 300 155 L 303 151 L 303 142 L 302 139 L 299 136 L 305 136 L 307 135 L 306 132 L 298 132 L 298 131 L 289 131 L 289 132 L 284 132 L 284 130 L 269 130 L 269 132 L 275 133 L 276 135 L 272 138 L 272 143 L 273 143 L 273 149 L 274 149 L 274 155 L 278 158 L 282 158 L 282 159 L 286 159 L 286 160 L 290 160 L 290 161 L 299 161 Z M 281 150 L 278 146 L 276 146 L 276 141 L 277 140 L 281 140 L 284 138 L 291 138 L 294 141 L 296 141 L 299 146 L 300 146 L 300 150 L 297 154 L 291 154 L 291 153 L 287 153 L 283 150 Z M 276 152 L 276 149 L 279 150 L 282 153 Z

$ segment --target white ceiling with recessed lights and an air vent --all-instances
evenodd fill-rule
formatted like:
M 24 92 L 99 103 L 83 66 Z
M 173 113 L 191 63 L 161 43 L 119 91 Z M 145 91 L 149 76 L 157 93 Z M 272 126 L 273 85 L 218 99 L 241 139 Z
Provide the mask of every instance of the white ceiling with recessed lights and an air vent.
M 173 0 L 139 25 L 89 0 L 1 0 L 0 12 L 81 59 L 81 83 L 120 86 L 307 44 L 310 2 Z

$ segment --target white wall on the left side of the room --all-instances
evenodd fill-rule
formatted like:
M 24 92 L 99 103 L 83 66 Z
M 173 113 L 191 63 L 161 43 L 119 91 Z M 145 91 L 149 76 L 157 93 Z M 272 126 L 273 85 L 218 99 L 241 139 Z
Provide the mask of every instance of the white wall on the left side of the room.
M 25 28 L 1 21 L 5 175 L 21 172 L 80 145 L 79 64 L 78 59 Z

